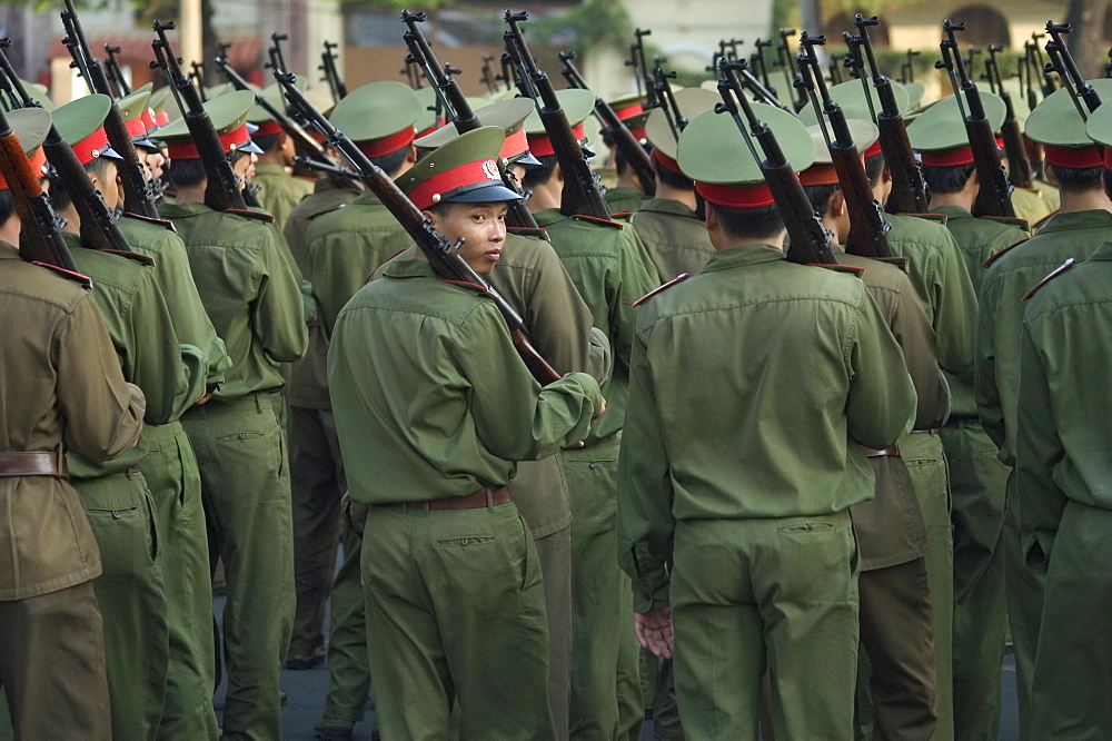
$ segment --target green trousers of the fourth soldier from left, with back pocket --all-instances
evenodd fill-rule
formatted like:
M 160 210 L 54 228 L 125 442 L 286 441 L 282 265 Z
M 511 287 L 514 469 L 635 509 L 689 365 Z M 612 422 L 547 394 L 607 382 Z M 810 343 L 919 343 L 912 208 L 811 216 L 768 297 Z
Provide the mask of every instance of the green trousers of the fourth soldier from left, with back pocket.
M 278 675 L 294 613 L 289 472 L 270 394 L 182 417 L 197 454 L 209 559 L 224 561 L 228 694 L 224 738 L 281 738 Z

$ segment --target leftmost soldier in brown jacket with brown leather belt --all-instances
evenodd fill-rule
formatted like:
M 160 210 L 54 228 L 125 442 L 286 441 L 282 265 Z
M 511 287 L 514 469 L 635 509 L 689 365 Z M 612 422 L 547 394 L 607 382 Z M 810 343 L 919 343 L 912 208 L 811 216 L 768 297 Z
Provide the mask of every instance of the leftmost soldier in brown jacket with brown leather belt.
M 50 115 L 7 118 L 41 172 Z M 138 441 L 145 401 L 123 379 L 90 293 L 19 259 L 14 209 L 2 181 L 0 685 L 16 738 L 107 739 L 103 624 L 91 584 L 101 559 L 63 454 L 97 464 L 122 456 Z

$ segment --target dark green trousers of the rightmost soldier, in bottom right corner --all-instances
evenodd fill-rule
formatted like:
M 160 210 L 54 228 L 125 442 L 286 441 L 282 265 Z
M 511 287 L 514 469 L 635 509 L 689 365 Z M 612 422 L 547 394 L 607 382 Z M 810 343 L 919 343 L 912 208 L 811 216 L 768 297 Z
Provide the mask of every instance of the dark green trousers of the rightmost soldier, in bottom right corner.
M 1112 738 L 1112 511 L 1065 505 L 1046 571 L 1032 739 Z

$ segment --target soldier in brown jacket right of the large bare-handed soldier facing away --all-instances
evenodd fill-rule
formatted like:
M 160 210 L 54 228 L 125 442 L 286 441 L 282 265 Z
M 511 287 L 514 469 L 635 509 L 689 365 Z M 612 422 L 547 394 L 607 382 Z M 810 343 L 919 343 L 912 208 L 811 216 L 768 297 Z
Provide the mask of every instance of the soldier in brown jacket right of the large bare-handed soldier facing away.
M 878 149 L 876 126 L 860 119 L 848 124 L 857 151 Z M 817 154 L 800 180 L 824 226 L 845 244 L 848 205 L 822 131 L 817 125 L 808 130 Z M 865 287 L 900 343 L 919 399 L 915 427 L 940 427 L 950 412 L 950 392 L 939 368 L 934 330 L 911 281 L 900 268 L 834 249 L 838 263 L 864 268 Z M 863 452 L 876 477 L 876 497 L 850 512 L 861 555 L 861 643 L 867 652 L 875 732 L 886 739 L 932 738 L 937 725 L 934 620 L 926 528 L 919 506 L 919 500 L 931 494 L 916 496 L 898 447 Z M 858 663 L 858 684 L 863 668 Z

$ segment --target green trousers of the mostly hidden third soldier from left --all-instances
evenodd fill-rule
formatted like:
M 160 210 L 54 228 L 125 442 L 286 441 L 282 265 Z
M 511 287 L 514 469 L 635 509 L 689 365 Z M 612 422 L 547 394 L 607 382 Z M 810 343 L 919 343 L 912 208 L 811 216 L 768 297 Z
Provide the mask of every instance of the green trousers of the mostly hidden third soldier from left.
M 155 503 L 166 585 L 169 665 L 159 735 L 216 739 L 212 579 L 197 458 L 178 422 L 147 425 L 142 474 Z

